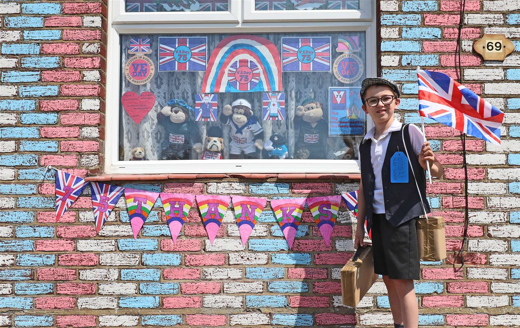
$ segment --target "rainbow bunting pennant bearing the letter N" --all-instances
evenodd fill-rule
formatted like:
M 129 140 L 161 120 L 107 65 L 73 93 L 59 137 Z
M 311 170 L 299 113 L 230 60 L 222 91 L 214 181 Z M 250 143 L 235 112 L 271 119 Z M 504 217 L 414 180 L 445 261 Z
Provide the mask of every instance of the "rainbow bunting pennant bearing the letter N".
M 238 231 L 242 239 L 242 245 L 248 242 L 249 236 L 256 225 L 256 219 L 262 214 L 267 199 L 244 196 L 231 196 L 235 217 L 237 218 Z

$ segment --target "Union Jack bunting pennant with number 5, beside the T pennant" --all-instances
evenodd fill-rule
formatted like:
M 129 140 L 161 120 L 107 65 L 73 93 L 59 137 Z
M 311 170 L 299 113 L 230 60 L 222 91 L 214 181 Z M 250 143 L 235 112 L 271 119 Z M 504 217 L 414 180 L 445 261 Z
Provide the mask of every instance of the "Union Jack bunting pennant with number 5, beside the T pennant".
M 96 233 L 101 230 L 110 212 L 123 194 L 124 188 L 106 185 L 105 183 L 90 182 L 92 193 L 92 208 L 94 210 L 94 224 Z

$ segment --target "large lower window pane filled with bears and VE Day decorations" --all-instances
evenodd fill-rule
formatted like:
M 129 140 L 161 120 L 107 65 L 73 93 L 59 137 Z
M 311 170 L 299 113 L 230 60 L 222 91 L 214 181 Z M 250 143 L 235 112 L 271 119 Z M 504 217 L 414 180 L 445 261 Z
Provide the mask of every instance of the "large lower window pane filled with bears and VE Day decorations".
M 357 159 L 365 32 L 121 44 L 120 160 Z

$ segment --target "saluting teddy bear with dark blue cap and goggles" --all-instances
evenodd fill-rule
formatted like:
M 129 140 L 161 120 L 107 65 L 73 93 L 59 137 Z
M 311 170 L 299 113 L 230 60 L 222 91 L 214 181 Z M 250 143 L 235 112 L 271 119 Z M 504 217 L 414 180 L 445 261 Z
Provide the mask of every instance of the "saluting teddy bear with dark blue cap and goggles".
M 189 160 L 191 150 L 202 153 L 202 139 L 199 129 L 190 120 L 186 101 L 171 99 L 167 106 L 157 113 L 157 122 L 166 130 L 167 146 L 163 147 L 162 160 Z

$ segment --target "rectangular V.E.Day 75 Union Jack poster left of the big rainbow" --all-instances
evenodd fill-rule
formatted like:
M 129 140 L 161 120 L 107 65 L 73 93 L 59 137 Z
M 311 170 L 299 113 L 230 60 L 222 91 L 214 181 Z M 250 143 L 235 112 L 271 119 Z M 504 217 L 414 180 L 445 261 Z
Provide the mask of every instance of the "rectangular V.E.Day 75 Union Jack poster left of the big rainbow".
M 160 37 L 159 71 L 206 71 L 206 37 Z

